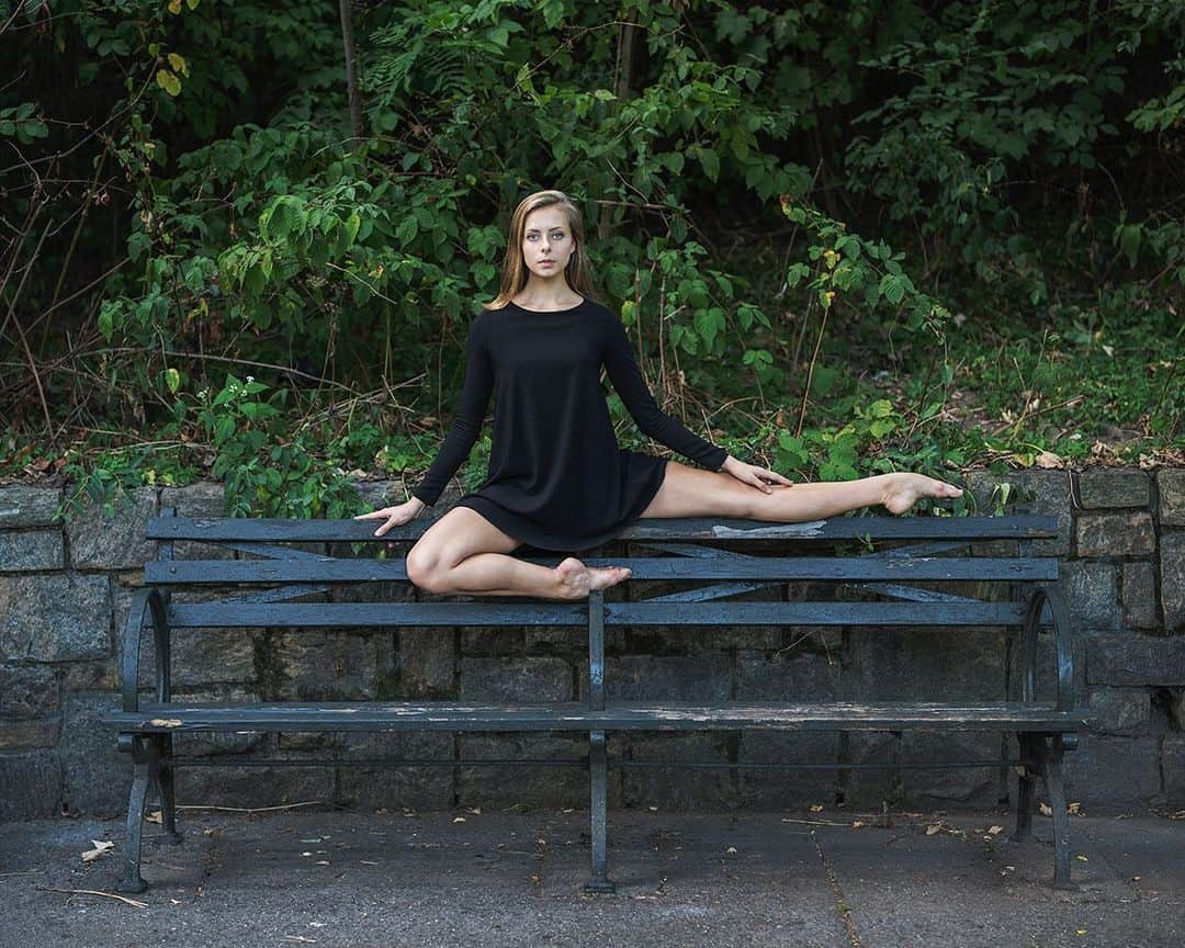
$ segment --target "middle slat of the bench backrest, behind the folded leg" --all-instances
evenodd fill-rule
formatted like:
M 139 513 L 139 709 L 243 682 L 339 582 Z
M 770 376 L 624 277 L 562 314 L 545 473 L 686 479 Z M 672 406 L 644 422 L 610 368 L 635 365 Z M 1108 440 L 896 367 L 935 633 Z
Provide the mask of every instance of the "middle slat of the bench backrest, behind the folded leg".
M 543 558 L 525 558 L 527 563 L 551 565 Z M 818 579 L 864 581 L 1018 581 L 1038 582 L 1057 578 L 1057 559 L 934 557 L 888 558 L 856 557 L 747 557 L 690 559 L 686 557 L 589 558 L 588 566 L 628 566 L 633 579 L 703 581 L 717 579 Z M 366 583 L 408 579 L 404 559 L 180 559 L 145 564 L 145 583 L 159 585 L 187 583 L 225 585 L 244 583 Z

